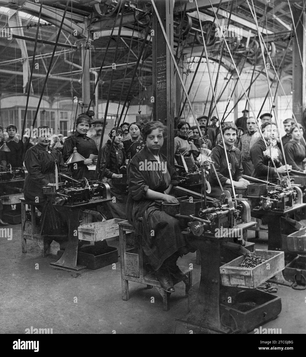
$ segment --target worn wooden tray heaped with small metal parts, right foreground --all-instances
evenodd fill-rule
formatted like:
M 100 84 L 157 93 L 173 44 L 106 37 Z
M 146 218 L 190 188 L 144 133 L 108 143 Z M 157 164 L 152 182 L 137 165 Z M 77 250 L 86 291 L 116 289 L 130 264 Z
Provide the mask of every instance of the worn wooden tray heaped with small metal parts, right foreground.
M 266 261 L 254 268 L 242 268 L 244 256 L 220 267 L 221 284 L 239 288 L 256 289 L 266 280 L 285 268 L 284 252 L 255 249 L 253 253 Z

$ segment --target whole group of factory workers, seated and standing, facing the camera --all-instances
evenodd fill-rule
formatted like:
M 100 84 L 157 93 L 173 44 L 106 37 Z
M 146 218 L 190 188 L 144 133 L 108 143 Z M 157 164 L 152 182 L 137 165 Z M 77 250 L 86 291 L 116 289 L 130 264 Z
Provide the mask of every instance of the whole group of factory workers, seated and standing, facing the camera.
M 177 173 L 182 167 L 182 158 L 188 169 L 192 170 L 192 167 L 199 166 L 196 159 L 202 144 L 207 143 L 212 148 L 211 159 L 216 171 L 211 169 L 207 177 L 211 185 L 209 196 L 212 197 L 220 197 L 220 185 L 230 190 L 231 179 L 235 187 L 247 187 L 249 181 L 242 177 L 243 174 L 275 182 L 277 177 L 291 168 L 305 172 L 302 127 L 294 124 L 291 119 L 284 121 L 286 135 L 281 140 L 285 165 L 282 151 L 278 147 L 280 139 L 272 115 L 266 113 L 260 119 L 259 128 L 256 120 L 248 117 L 244 111 L 244 116 L 238 119 L 237 124 L 242 130 L 246 128 L 247 132 L 241 135 L 239 141 L 239 129 L 233 122 L 222 124 L 219 133 L 216 117 L 211 118 L 209 126 L 206 125 L 207 117 L 199 117 L 197 120 L 201 133 L 207 134 L 203 139 L 197 137 L 199 130 L 190 132 L 190 125 L 179 121 L 174 139 L 175 167 L 171 167 L 167 157 L 160 152 L 167 134 L 166 127 L 161 122 L 150 121 L 142 127 L 136 122 L 123 123 L 118 129 L 112 128 L 109 140 L 101 147 L 100 162 L 97 162 L 103 121 L 91 121 L 89 116 L 79 115 L 74 134 L 62 142 L 61 150 L 51 146 L 51 137 L 42 136 L 38 138 L 37 145 L 25 152 L 24 165 L 28 172 L 24 183 L 25 200 L 30 204 L 35 202 L 36 206 L 40 205 L 41 211 L 47 204 L 51 204 L 42 187 L 55 185 L 55 166 L 60 172 L 76 180 L 81 180 L 82 177 L 92 180 L 95 178 L 97 165 L 99 178 L 107 179 L 111 195 L 116 197 L 116 202 L 107 202 L 112 217 L 127 219 L 134 225 L 135 234 L 140 236 L 142 249 L 156 272 L 161 287 L 167 292 L 174 292 L 173 278 L 186 278 L 176 265 L 178 257 L 195 251 L 182 235 L 179 221 L 161 209 L 161 202 L 178 203 L 171 195 L 171 189 L 178 184 Z M 91 125 L 96 133 L 93 137 L 87 136 Z M 41 126 L 38 129 L 40 128 L 48 127 Z M 9 138 L 5 141 L 11 151 L 0 153 L 0 159 L 6 159 L 12 167 L 22 166 L 24 155 L 24 149 L 20 149 L 22 143 L 14 139 L 16 131 L 14 125 L 7 127 Z M 221 142 L 216 141 L 218 134 L 221 135 Z M 84 160 L 65 164 L 75 147 Z M 2 154 L 14 156 L 15 161 L 8 156 L 2 157 Z M 144 169 L 144 162 L 156 165 L 150 166 L 151 169 L 149 166 Z M 122 185 L 118 186 L 113 182 L 114 178 L 125 175 L 127 191 L 126 188 L 122 189 Z M 0 223 L 5 224 L 3 221 Z

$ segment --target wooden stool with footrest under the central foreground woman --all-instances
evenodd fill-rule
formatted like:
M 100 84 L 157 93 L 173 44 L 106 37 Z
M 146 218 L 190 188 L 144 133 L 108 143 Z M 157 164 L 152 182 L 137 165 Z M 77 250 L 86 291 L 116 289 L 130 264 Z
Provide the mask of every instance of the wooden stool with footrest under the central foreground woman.
M 154 271 L 150 271 L 147 264 L 144 263 L 142 256 L 142 248 L 140 244 L 134 244 L 135 248 L 126 250 L 126 232 L 135 232 L 135 228 L 128 221 L 122 221 L 119 225 L 119 242 L 120 242 L 120 262 L 121 262 L 121 284 L 122 284 L 122 300 L 127 301 L 129 297 L 129 281 L 146 284 L 147 288 L 153 286 L 162 296 L 163 310 L 168 311 L 169 297 L 171 293 L 166 292 L 161 288 L 160 282 L 155 277 Z M 135 239 L 136 240 L 136 239 Z M 188 291 L 192 286 L 192 270 L 185 269 L 183 272 L 188 279 L 174 280 L 174 285 L 180 281 L 184 281 L 185 294 L 188 296 Z

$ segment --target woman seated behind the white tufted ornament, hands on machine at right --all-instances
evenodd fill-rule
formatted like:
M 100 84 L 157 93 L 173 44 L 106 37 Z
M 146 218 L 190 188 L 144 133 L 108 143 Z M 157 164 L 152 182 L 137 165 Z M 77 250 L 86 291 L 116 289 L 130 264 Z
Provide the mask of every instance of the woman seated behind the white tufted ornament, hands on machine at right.
M 286 165 L 282 165 L 283 156 L 277 146 L 277 127 L 268 121 L 261 125 L 261 132 L 265 140 L 257 140 L 250 150 L 254 165 L 252 176 L 275 183 L 279 176 L 286 173 Z M 288 164 L 287 169 L 291 170 Z

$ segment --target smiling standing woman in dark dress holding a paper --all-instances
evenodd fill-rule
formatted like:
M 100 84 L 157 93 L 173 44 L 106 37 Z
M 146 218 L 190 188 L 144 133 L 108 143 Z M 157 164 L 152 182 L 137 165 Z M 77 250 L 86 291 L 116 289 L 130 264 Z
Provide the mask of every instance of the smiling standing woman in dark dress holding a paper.
M 87 165 L 95 164 L 96 161 L 90 160 L 90 154 L 98 155 L 98 149 L 94 140 L 88 137 L 87 131 L 90 127 L 90 118 L 85 114 L 81 114 L 76 118 L 76 132 L 68 137 L 64 142 L 63 157 L 66 162 L 71 154 L 73 148 L 76 147 L 77 152 L 82 155 L 85 160 L 73 162 L 69 165 L 70 176 L 76 180 L 81 180 L 86 177 L 87 180 L 93 180 L 95 170 L 89 170 Z M 94 166 L 92 166 L 94 167 Z

